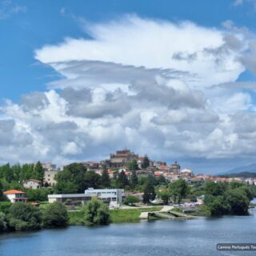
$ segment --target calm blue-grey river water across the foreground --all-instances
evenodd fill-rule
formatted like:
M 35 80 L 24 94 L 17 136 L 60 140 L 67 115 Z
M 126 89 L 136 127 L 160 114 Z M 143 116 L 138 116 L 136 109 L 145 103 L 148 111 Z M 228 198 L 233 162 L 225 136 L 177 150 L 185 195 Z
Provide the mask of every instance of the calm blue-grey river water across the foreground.
M 217 243 L 256 242 L 256 210 L 250 216 L 186 221 L 71 226 L 0 235 L 1 256 L 167 256 L 256 255 L 256 251 L 218 251 Z

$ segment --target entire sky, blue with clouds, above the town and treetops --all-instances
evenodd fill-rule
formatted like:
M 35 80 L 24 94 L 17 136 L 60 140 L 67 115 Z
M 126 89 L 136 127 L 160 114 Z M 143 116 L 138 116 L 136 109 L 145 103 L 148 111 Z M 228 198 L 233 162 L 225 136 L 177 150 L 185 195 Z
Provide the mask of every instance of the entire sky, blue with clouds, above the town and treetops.
M 255 0 L 0 1 L 0 164 L 255 162 L 255 24 Z

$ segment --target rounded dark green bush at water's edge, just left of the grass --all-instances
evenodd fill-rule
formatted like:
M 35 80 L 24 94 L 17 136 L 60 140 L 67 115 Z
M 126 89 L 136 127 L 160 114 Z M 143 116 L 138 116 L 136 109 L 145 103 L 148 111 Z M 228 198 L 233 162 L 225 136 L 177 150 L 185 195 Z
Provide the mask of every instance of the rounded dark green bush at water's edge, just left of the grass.
M 61 202 L 53 202 L 46 206 L 42 213 L 42 222 L 46 228 L 66 226 L 68 222 L 66 207 Z

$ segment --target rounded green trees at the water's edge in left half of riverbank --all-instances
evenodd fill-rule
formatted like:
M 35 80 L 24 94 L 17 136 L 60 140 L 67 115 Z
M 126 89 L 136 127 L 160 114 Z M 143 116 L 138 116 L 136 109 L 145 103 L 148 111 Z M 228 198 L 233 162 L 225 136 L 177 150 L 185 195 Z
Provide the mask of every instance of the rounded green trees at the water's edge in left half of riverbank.
M 94 198 L 82 207 L 83 224 L 106 225 L 110 222 L 108 206 Z M 53 202 L 39 208 L 26 202 L 0 202 L 0 232 L 40 230 L 68 225 L 66 206 Z

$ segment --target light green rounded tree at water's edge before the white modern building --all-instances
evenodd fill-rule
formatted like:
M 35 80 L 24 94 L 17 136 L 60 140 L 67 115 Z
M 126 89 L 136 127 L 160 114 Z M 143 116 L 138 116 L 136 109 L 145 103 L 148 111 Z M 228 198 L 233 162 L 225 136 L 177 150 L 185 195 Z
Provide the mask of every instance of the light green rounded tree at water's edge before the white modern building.
M 83 208 L 86 225 L 106 225 L 110 222 L 110 210 L 108 206 L 93 198 Z

